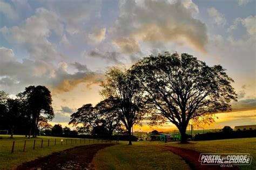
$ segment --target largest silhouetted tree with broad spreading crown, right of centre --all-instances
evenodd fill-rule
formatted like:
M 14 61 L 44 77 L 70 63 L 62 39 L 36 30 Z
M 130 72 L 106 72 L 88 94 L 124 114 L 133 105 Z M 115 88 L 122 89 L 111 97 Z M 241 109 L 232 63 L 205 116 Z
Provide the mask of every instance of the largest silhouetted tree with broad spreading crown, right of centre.
M 192 55 L 168 52 L 143 58 L 132 66 L 152 106 L 152 121 L 169 121 L 177 126 L 181 143 L 186 143 L 190 120 L 231 110 L 237 95 L 225 69 L 207 66 Z

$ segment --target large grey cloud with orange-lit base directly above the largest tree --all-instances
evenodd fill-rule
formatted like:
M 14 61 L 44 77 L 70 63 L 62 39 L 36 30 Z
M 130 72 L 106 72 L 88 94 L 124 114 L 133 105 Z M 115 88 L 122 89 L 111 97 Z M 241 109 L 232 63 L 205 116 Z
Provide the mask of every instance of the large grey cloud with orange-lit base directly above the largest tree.
M 116 25 L 110 29 L 113 42 L 126 53 L 138 52 L 140 42 L 177 41 L 205 52 L 206 26 L 187 8 L 180 1 L 123 1 Z

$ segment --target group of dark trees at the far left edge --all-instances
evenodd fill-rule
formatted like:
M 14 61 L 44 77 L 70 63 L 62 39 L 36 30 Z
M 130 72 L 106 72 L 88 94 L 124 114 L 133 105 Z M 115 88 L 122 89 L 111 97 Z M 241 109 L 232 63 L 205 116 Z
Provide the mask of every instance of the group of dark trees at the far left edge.
M 15 98 L 0 91 L 0 130 L 9 130 L 11 138 L 14 130 L 36 137 L 39 122 L 47 123 L 53 117 L 51 93 L 44 86 L 26 87 Z

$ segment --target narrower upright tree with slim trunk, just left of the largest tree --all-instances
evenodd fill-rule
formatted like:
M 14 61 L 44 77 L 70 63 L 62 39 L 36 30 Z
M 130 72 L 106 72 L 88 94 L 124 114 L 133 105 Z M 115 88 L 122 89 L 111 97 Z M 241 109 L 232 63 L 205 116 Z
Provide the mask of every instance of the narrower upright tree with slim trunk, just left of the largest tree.
M 144 115 L 143 94 L 139 81 L 129 71 L 112 68 L 106 72 L 106 81 L 102 82 L 101 95 L 112 97 L 118 107 L 119 118 L 129 132 L 129 145 L 133 124 L 139 123 Z

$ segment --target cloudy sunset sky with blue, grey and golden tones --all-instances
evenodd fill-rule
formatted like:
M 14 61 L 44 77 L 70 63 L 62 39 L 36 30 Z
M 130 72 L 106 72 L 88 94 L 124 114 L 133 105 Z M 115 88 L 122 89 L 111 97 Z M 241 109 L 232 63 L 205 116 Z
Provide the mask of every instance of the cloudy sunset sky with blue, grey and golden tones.
M 238 102 L 207 128 L 256 124 L 254 0 L 0 0 L 0 90 L 51 90 L 66 126 L 83 104 L 97 104 L 110 67 L 129 68 L 150 54 L 188 53 L 232 77 Z M 170 130 L 136 126 L 135 129 Z

